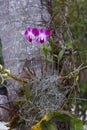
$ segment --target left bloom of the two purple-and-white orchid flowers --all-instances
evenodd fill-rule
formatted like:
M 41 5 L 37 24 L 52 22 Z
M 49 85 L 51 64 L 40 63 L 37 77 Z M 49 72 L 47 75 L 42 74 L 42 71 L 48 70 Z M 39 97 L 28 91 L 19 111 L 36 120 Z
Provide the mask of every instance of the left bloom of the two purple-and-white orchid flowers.
M 39 30 L 37 28 L 28 27 L 24 34 L 29 42 L 34 42 L 39 35 Z

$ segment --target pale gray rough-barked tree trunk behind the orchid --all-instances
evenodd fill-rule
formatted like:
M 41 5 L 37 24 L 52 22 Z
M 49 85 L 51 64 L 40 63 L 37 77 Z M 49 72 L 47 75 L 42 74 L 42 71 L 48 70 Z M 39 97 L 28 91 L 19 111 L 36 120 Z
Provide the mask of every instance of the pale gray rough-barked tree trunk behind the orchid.
M 47 7 L 42 6 L 40 0 L 0 0 L 0 38 L 5 68 L 19 75 L 25 60 L 36 57 L 38 49 L 26 41 L 23 32 L 29 25 L 45 27 L 49 18 Z M 17 82 L 9 81 L 7 89 L 9 99 L 13 100 L 17 96 L 15 89 L 19 89 Z

